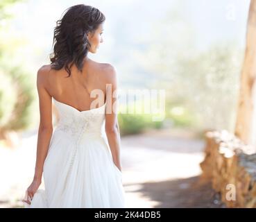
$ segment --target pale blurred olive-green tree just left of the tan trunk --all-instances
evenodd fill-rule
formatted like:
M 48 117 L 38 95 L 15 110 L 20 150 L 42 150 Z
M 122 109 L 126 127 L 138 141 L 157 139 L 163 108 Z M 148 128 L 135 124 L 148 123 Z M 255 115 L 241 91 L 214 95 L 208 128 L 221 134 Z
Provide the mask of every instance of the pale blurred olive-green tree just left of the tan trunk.
M 195 128 L 234 130 L 244 57 L 244 51 L 234 45 L 218 43 L 177 62 L 171 97 L 182 95 L 185 107 L 196 114 Z

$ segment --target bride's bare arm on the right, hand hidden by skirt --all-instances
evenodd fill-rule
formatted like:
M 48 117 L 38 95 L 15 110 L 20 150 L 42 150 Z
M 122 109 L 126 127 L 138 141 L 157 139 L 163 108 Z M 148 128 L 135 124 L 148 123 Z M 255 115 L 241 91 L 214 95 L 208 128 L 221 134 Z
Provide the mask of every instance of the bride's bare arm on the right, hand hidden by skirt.
M 121 171 L 120 133 L 117 119 L 117 72 L 111 65 L 108 67 L 106 94 L 105 133 L 108 138 L 114 164 Z

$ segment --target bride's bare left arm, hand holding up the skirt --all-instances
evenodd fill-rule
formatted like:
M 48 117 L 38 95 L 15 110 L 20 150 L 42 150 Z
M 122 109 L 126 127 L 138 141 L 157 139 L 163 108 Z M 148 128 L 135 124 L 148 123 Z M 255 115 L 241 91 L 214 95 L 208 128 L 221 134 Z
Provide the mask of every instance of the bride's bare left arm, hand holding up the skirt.
M 52 126 L 52 107 L 51 96 L 46 91 L 45 85 L 47 81 L 47 70 L 41 67 L 37 71 L 37 92 L 39 96 L 40 105 L 40 126 L 38 128 L 37 135 L 37 155 L 35 162 L 35 173 L 33 182 L 28 187 L 28 197 L 33 198 L 35 192 L 42 182 L 42 173 L 44 167 L 44 160 L 48 153 L 48 148 L 53 133 Z M 29 200 L 23 200 L 24 202 L 31 204 Z

